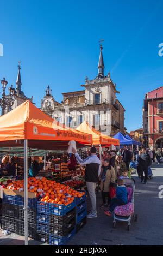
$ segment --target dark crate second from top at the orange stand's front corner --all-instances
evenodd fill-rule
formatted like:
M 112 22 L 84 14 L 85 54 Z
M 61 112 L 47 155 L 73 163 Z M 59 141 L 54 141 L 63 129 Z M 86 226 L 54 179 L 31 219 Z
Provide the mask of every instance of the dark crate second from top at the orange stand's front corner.
M 74 216 L 76 216 L 76 209 L 72 209 L 69 212 L 67 212 L 65 215 L 49 215 L 49 223 L 50 224 L 59 224 L 64 225 L 68 221 L 70 221 Z

